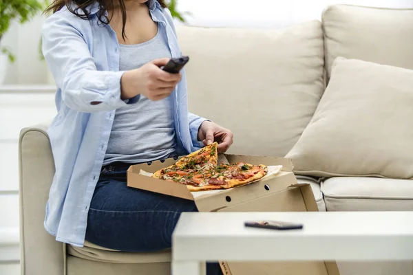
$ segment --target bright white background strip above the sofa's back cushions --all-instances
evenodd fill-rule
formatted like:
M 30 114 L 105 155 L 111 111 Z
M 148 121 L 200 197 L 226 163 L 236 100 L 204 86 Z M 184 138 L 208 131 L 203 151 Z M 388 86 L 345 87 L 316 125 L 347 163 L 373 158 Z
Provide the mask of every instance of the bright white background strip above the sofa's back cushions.
M 386 8 L 413 8 L 413 0 L 178 0 L 179 9 L 193 13 L 191 25 L 279 28 L 321 19 L 327 5 L 348 3 Z

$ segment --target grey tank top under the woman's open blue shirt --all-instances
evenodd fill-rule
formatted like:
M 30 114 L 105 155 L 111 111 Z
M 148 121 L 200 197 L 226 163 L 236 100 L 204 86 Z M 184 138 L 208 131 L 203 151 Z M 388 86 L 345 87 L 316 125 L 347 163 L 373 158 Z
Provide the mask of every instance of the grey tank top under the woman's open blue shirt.
M 171 58 L 166 32 L 138 45 L 120 45 L 120 70 L 136 69 L 156 58 Z M 176 148 L 171 97 L 151 101 L 140 95 L 135 104 L 116 109 L 103 165 L 140 163 L 171 157 Z

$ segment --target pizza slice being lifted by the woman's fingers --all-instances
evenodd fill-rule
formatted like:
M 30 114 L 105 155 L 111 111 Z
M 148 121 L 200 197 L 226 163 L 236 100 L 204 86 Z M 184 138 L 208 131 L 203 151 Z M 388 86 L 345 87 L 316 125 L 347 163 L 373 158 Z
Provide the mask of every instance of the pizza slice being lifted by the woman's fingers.
M 185 173 L 193 173 L 196 170 L 204 168 L 213 168 L 218 165 L 218 143 L 214 142 L 204 148 L 195 151 L 185 157 L 182 157 L 175 164 L 162 168 L 152 177 L 160 179 L 169 179 L 173 175 L 185 175 Z M 165 176 L 166 175 L 166 176 Z

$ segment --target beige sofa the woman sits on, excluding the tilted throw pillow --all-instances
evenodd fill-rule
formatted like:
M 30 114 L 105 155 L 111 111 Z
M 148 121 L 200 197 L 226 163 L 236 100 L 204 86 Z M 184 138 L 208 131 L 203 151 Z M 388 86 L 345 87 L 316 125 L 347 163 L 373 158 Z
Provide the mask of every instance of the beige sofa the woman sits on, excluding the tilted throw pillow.
M 333 5 L 322 19 L 283 30 L 178 28 L 182 52 L 191 56 L 190 109 L 233 130 L 233 153 L 286 155 L 312 118 L 337 56 L 413 69 L 413 10 Z M 169 274 L 169 252 L 74 248 L 45 232 L 54 174 L 46 129 L 23 129 L 20 137 L 22 274 Z M 320 211 L 413 210 L 410 180 L 299 178 L 312 184 Z M 339 268 L 343 275 L 413 272 L 411 262 Z

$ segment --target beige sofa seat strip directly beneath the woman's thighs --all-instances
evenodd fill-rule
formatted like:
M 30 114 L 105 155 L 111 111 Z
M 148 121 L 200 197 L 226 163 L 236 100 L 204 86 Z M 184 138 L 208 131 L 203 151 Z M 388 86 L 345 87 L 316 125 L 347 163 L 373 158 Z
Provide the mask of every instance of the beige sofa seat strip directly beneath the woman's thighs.
M 67 254 L 89 261 L 105 263 L 169 263 L 171 251 L 165 250 L 152 253 L 121 252 L 103 248 L 85 241 L 83 248 L 67 245 Z

